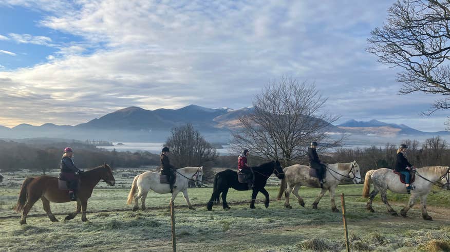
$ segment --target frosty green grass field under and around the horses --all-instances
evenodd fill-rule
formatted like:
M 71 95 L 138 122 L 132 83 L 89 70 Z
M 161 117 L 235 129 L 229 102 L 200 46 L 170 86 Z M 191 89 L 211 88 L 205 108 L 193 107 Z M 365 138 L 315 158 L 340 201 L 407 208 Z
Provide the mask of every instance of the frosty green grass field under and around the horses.
M 0 247 L 6 251 L 75 250 L 75 251 L 169 251 L 171 250 L 171 223 L 169 196 L 149 193 L 145 211 L 132 212 L 125 205 L 129 180 L 139 171 L 116 172 L 118 187 L 107 187 L 101 182 L 88 203 L 88 222 L 81 215 L 71 221 L 62 221 L 74 210 L 73 203 L 51 203 L 60 222 L 51 223 L 44 216 L 41 201 L 30 212 L 27 225 L 19 225 L 19 215 L 12 211 L 16 203 L 16 186 L 0 186 Z M 121 175 L 125 174 L 127 176 Z M 129 176 L 128 176 L 129 175 Z M 15 174 L 20 177 L 20 174 Z M 12 174 L 9 177 L 13 177 Z M 23 179 L 23 177 L 21 178 Z M 273 180 L 276 182 L 276 180 Z M 128 183 L 128 186 L 127 186 Z M 267 187 L 270 198 L 275 198 L 278 187 Z M 362 185 L 341 185 L 336 195 L 360 195 Z M 302 188 L 306 207 L 291 199 L 293 209 L 284 207 L 284 199 L 271 201 L 269 208 L 262 203 L 250 209 L 250 192 L 230 190 L 228 201 L 232 209 L 222 210 L 214 205 L 205 209 L 211 188 L 189 189 L 196 210 L 185 207 L 182 195 L 175 201 L 178 251 L 316 251 L 345 250 L 342 215 L 332 213 L 328 194 L 318 209 L 312 202 L 319 190 Z M 450 249 L 450 192 L 435 190 L 428 197 L 428 212 L 434 221 L 421 217 L 418 205 L 407 218 L 392 217 L 377 196 L 376 213 L 365 211 L 366 199 L 346 197 L 347 222 L 352 251 L 445 251 Z M 258 195 L 258 199 L 264 197 Z M 399 211 L 407 201 L 406 195 L 388 195 Z M 336 204 L 340 198 L 336 197 Z

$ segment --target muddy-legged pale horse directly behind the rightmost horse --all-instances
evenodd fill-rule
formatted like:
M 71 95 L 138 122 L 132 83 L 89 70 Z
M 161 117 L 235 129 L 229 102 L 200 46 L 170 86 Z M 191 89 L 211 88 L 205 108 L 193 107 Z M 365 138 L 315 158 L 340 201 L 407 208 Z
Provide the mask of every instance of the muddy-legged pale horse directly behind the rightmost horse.
M 286 208 L 292 208 L 289 204 L 289 195 L 291 192 L 295 195 L 295 197 L 297 197 L 298 204 L 305 207 L 305 202 L 302 197 L 298 195 L 300 186 L 306 185 L 308 187 L 320 187 L 318 179 L 309 175 L 309 169 L 309 166 L 301 164 L 294 164 L 284 169 L 285 179 L 283 179 L 280 185 L 277 200 L 281 199 L 284 193 L 286 196 Z M 356 161 L 351 163 L 327 164 L 325 179 L 327 182 L 323 184 L 322 191 L 315 199 L 314 203 L 312 203 L 312 207 L 317 209 L 318 202 L 328 190 L 331 198 L 331 211 L 339 212 L 334 202 L 334 192 L 336 191 L 337 185 L 346 178 L 352 179 L 355 184 L 359 184 L 361 182 L 360 166 Z

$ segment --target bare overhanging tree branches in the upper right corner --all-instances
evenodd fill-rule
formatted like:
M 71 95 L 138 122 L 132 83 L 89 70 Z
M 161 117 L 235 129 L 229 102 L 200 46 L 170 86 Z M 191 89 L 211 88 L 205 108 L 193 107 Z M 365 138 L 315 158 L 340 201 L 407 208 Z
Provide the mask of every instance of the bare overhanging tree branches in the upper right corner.
M 398 1 L 389 8 L 383 27 L 372 30 L 367 51 L 384 64 L 404 69 L 397 78 L 403 82 L 401 94 L 450 95 L 449 23 L 448 0 Z M 422 114 L 449 108 L 450 98 L 441 98 Z

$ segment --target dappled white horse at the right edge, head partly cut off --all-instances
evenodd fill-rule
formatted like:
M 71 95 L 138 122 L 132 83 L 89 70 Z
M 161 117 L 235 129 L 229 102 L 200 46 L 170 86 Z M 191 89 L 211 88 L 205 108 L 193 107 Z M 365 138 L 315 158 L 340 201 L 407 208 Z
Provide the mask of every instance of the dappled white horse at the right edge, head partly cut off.
M 450 167 L 448 166 L 427 166 L 416 170 L 416 181 L 414 181 L 414 190 L 411 190 L 411 196 L 409 197 L 409 202 L 403 209 L 401 209 L 400 214 L 406 217 L 406 213 L 409 211 L 417 197 L 420 197 L 420 204 L 422 208 L 422 217 L 425 220 L 433 220 L 431 216 L 428 215 L 426 211 L 426 197 L 432 190 L 433 184 L 446 187 L 450 190 Z M 441 182 L 437 182 L 441 180 Z M 373 183 L 373 191 L 369 195 L 370 184 Z M 381 200 L 386 205 L 387 211 L 393 215 L 398 216 L 397 212 L 392 209 L 392 207 L 387 202 L 386 192 L 387 190 L 393 193 L 406 194 L 406 186 L 399 181 L 399 175 L 392 172 L 392 170 L 387 168 L 381 168 L 378 170 L 370 170 L 366 173 L 366 178 L 364 180 L 363 197 L 369 198 L 367 202 L 367 210 L 370 212 L 375 212 L 372 208 L 372 201 L 375 196 L 380 192 Z

